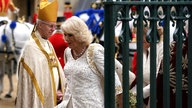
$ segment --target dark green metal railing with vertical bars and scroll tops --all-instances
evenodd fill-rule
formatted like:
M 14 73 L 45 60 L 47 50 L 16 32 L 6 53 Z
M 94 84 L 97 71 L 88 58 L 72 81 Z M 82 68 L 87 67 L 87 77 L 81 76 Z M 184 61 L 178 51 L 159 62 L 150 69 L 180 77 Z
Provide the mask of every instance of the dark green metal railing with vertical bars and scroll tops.
M 137 15 L 131 12 L 135 6 Z M 145 8 L 149 11 L 145 11 Z M 157 23 L 163 26 L 163 107 L 170 107 L 170 22 L 176 24 L 173 33 L 176 41 L 176 108 L 182 108 L 182 43 L 188 33 L 188 108 L 192 108 L 192 1 L 190 0 L 106 0 L 104 2 L 105 36 L 105 108 L 115 108 L 114 55 L 115 28 L 122 21 L 122 34 L 119 37 L 123 48 L 123 108 L 129 108 L 129 43 L 132 40 L 129 22 L 136 20 L 137 27 L 137 108 L 143 108 L 143 21 L 150 22 L 150 107 L 156 108 L 156 43 Z M 188 28 L 184 29 L 188 22 Z

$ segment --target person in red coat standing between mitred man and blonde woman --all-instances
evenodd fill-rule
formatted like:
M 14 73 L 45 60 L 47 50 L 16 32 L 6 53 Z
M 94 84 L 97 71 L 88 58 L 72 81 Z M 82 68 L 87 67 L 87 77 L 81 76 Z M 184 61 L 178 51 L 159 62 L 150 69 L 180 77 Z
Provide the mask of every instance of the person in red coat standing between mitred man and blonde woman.
M 57 27 L 53 35 L 49 38 L 49 41 L 52 43 L 53 48 L 55 49 L 57 58 L 62 66 L 64 68 L 64 50 L 68 47 L 67 42 L 64 39 L 63 32 L 61 30 L 61 24 L 65 21 L 65 17 L 57 17 Z

